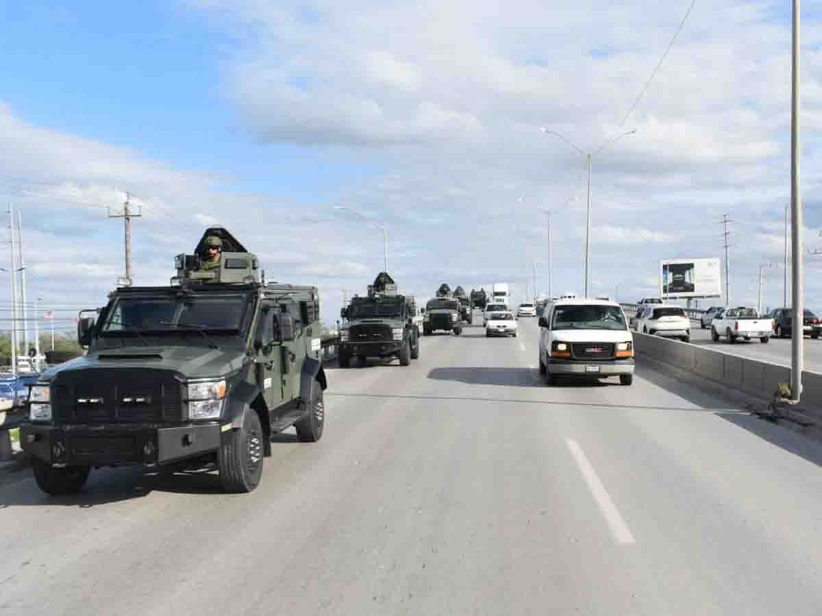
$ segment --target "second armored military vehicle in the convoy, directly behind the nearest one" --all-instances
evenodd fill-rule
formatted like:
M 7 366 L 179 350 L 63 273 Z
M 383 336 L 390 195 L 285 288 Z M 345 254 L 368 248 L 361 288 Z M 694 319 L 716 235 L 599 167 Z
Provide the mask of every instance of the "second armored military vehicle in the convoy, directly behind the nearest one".
M 395 356 L 400 365 L 418 359 L 416 313 L 414 298 L 399 295 L 394 279 L 386 272 L 378 274 L 366 297 L 353 297 L 340 311 L 345 322 L 339 330 L 339 366 L 348 368 L 352 357 L 357 357 L 360 365 L 368 357 Z

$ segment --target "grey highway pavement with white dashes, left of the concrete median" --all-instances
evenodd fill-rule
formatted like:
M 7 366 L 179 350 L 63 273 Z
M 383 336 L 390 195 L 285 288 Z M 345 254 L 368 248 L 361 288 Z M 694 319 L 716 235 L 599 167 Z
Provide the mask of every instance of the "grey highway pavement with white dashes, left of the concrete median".
M 644 365 L 549 388 L 520 324 L 330 368 L 323 439 L 252 494 L 7 479 L 0 614 L 820 613 L 820 444 Z

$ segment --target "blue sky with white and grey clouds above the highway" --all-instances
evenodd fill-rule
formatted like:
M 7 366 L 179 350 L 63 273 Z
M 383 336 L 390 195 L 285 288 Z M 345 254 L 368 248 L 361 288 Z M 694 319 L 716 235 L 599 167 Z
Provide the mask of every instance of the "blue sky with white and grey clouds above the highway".
M 659 260 L 721 256 L 727 213 L 732 299 L 755 301 L 758 265 L 781 259 L 789 196 L 789 14 L 784 2 L 697 2 L 621 125 L 689 4 L 2 2 L 0 199 L 23 212 L 30 288 L 53 304 L 105 301 L 122 274 L 106 208 L 131 191 L 145 214 L 138 283 L 167 281 L 173 255 L 219 222 L 275 278 L 321 287 L 332 321 L 382 260 L 381 233 L 343 204 L 388 226 L 406 292 L 502 281 L 521 296 L 533 261 L 544 292 L 548 208 L 553 290 L 580 292 L 584 159 L 547 125 L 584 149 L 637 131 L 594 159 L 593 292 L 618 284 L 635 300 L 653 292 Z M 814 249 L 814 11 L 803 43 Z M 820 268 L 808 261 L 808 304 L 822 312 Z M 769 305 L 782 296 L 772 278 Z

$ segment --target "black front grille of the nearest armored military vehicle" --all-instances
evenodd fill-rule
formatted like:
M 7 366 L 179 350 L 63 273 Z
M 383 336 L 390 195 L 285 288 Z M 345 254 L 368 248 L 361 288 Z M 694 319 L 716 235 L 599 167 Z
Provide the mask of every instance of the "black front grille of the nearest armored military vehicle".
M 67 371 L 52 404 L 63 423 L 182 421 L 182 383 L 166 370 Z

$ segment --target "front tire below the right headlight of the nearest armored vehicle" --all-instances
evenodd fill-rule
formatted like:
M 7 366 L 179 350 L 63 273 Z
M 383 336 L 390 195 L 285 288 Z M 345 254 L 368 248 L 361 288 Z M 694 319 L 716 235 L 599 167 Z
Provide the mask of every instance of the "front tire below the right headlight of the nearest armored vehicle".
M 251 492 L 262 476 L 265 435 L 260 418 L 247 407 L 242 428 L 229 430 L 228 438 L 217 453 L 219 482 L 226 492 Z

